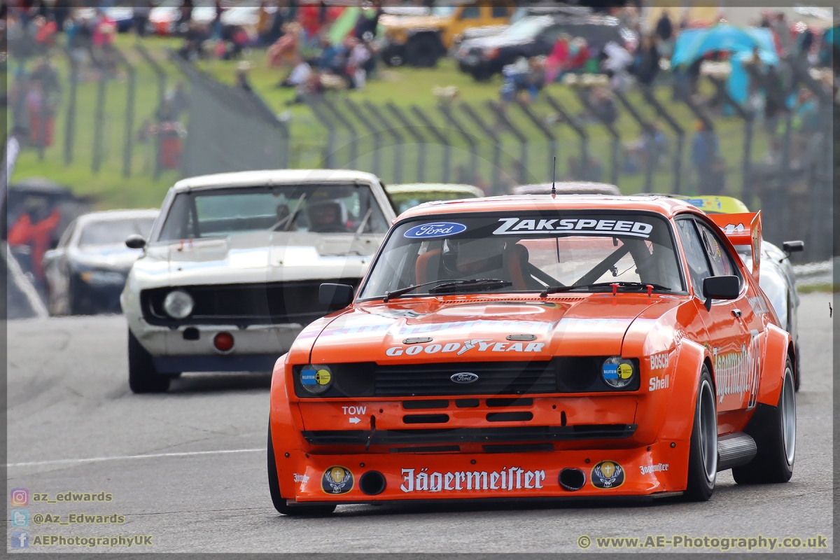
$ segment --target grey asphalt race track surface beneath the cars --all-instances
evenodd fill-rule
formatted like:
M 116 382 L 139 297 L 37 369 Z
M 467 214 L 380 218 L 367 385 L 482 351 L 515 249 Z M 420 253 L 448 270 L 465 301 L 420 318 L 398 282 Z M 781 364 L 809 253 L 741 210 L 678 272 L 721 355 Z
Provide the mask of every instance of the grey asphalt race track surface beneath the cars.
M 328 517 L 281 516 L 265 474 L 269 377 L 186 374 L 165 395 L 132 395 L 123 317 L 8 322 L 8 489 L 29 489 L 29 505 L 18 508 L 29 511 L 29 542 L 45 535 L 151 535 L 151 546 L 142 548 L 148 552 L 579 552 L 580 536 L 648 535 L 822 535 L 831 550 L 828 301 L 829 294 L 802 296 L 793 479 L 738 486 L 727 471 L 706 503 L 347 505 Z M 68 490 L 113 499 L 33 501 L 36 493 L 53 499 Z M 71 513 L 125 519 L 34 523 L 36 514 L 67 521 Z M 82 552 L 61 546 L 26 552 L 45 550 Z M 597 550 L 592 542 L 588 551 Z

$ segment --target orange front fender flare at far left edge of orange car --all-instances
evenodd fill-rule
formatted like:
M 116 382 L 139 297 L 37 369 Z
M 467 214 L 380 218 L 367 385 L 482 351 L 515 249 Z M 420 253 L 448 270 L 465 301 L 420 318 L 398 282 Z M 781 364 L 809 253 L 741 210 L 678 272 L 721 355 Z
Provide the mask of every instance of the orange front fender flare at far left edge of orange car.
M 293 437 L 300 431 L 295 428 L 291 413 L 289 395 L 286 392 L 286 358 L 288 353 L 277 359 L 271 374 L 269 426 L 271 429 L 271 445 L 274 447 L 274 460 L 277 465 L 277 480 L 280 483 L 280 494 L 284 497 L 294 496 L 293 474 L 296 467 L 294 459 L 286 457 L 286 453 L 297 457 L 300 443 Z

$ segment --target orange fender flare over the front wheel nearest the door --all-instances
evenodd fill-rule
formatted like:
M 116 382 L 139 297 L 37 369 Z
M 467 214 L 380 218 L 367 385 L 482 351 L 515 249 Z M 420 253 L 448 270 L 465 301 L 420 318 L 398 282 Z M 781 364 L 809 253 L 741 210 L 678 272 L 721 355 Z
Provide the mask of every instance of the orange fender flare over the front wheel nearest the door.
M 688 441 L 694 427 L 697 388 L 700 384 L 700 370 L 706 360 L 706 348 L 688 338 L 680 340 L 677 348 L 674 389 L 671 390 L 668 413 L 659 432 L 659 441 Z M 691 411 L 691 414 L 686 415 L 685 411 Z

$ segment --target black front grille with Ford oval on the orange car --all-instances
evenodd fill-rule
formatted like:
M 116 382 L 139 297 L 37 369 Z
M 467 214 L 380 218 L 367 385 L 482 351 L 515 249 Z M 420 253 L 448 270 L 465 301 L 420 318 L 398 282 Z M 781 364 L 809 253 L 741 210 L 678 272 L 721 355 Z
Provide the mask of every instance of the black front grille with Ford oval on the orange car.
M 461 395 L 538 395 L 620 391 L 601 378 L 606 357 L 555 358 L 533 362 L 454 362 L 446 364 L 329 364 L 333 385 L 315 398 L 412 397 Z M 634 379 L 622 390 L 638 390 L 638 361 Z M 295 366 L 295 394 L 312 398 L 300 385 Z M 478 376 L 473 383 L 459 384 L 454 374 Z

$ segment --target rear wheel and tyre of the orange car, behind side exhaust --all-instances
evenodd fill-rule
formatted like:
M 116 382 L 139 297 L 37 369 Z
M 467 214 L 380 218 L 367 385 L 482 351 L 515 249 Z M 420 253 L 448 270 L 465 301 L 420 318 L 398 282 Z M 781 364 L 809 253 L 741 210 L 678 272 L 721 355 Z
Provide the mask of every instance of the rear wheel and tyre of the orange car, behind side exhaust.
M 796 396 L 790 357 L 785 363 L 785 379 L 779 404 L 759 404 L 759 409 L 749 423 L 757 427 L 755 431 L 748 430 L 748 433 L 753 436 L 759 448 L 758 453 L 749 463 L 732 468 L 732 478 L 738 484 L 769 484 L 790 480 L 796 451 Z

